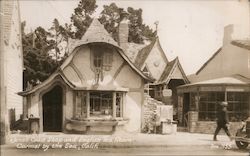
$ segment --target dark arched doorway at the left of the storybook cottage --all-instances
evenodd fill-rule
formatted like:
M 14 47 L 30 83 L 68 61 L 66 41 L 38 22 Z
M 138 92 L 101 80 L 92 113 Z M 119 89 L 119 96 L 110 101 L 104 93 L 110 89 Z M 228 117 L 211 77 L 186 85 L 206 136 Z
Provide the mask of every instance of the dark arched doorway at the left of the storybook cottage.
M 62 103 L 63 89 L 55 86 L 42 97 L 43 100 L 43 131 L 61 132 L 62 131 Z

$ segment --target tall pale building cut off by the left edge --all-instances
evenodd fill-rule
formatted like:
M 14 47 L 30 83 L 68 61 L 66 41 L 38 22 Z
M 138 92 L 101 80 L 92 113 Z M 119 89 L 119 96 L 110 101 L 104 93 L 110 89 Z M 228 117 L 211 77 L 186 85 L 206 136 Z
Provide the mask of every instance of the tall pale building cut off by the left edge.
M 4 143 L 9 123 L 20 119 L 23 111 L 22 97 L 17 95 L 22 90 L 23 53 L 18 1 L 0 1 L 0 10 L 1 143 Z

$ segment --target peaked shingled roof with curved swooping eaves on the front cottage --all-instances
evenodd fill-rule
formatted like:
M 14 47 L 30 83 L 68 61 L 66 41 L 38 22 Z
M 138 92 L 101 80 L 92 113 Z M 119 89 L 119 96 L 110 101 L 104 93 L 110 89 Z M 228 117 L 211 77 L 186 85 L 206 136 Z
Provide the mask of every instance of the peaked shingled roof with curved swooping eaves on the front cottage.
M 141 70 L 136 68 L 136 66 L 131 62 L 131 60 L 127 57 L 127 55 L 123 52 L 123 50 L 118 46 L 118 44 L 113 40 L 111 35 L 108 34 L 108 32 L 104 29 L 103 25 L 97 20 L 94 19 L 92 23 L 90 24 L 89 28 L 87 29 L 86 33 L 82 37 L 81 40 L 76 41 L 76 44 L 74 45 L 74 48 L 72 48 L 72 52 L 70 52 L 70 55 L 67 57 L 67 59 L 63 62 L 63 64 L 60 66 L 60 68 L 54 72 L 47 80 L 45 80 L 43 83 L 35 86 L 31 90 L 20 92 L 19 95 L 28 95 L 39 88 L 42 88 L 45 85 L 50 84 L 57 76 L 60 76 L 67 85 L 69 85 L 71 88 L 77 89 L 78 86 L 73 85 L 70 83 L 70 80 L 68 80 L 64 74 L 63 70 L 64 68 L 72 61 L 73 56 L 76 54 L 76 48 L 86 45 L 86 44 L 92 44 L 92 43 L 106 43 L 113 45 L 117 48 L 117 52 L 121 55 L 121 57 L 128 63 L 128 65 L 138 74 L 140 75 L 144 80 L 147 80 L 149 82 L 153 82 L 153 79 L 143 74 Z

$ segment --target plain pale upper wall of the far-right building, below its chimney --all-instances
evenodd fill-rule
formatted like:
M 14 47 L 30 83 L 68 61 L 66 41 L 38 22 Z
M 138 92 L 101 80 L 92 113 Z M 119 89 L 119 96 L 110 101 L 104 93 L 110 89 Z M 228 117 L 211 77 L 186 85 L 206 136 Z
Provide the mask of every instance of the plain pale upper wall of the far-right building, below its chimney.
M 203 81 L 234 74 L 250 78 L 249 50 L 227 44 L 201 72 L 195 81 Z

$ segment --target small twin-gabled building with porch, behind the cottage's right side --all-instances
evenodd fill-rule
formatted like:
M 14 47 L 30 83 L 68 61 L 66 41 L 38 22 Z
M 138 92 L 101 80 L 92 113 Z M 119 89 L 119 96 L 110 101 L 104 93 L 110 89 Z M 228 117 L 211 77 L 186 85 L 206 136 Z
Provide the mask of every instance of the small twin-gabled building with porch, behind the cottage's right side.
M 130 45 L 131 46 L 131 45 Z M 133 47 L 133 45 L 131 46 Z M 137 47 L 140 48 L 138 45 Z M 177 116 L 177 87 L 189 83 L 178 57 L 169 61 L 163 51 L 159 37 L 137 51 L 129 48 L 130 56 L 135 66 L 144 74 L 153 77 L 154 82 L 145 85 L 145 92 L 152 98 L 174 106 L 174 119 Z M 168 95 L 164 95 L 167 92 Z

